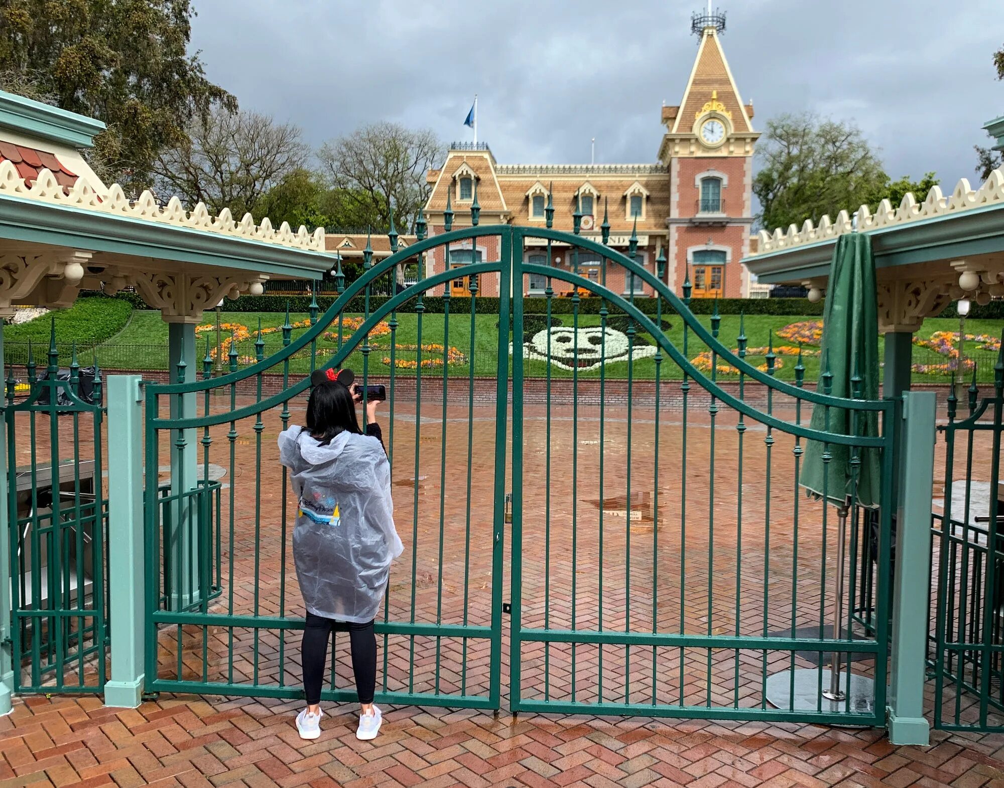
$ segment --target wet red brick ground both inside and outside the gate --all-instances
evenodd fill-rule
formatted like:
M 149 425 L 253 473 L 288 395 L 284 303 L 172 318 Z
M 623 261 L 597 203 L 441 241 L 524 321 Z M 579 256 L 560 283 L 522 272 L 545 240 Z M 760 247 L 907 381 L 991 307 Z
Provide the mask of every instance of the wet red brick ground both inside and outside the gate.
M 238 405 L 250 402 L 242 397 Z M 222 410 L 225 403 L 214 401 L 211 407 Z M 290 412 L 293 423 L 301 421 L 303 402 L 291 403 Z M 777 412 L 794 418 L 783 403 Z M 397 407 L 390 448 L 395 517 L 406 552 L 392 572 L 388 619 L 487 626 L 497 412 L 476 405 L 469 413 L 465 405 L 451 403 L 445 415 L 444 421 L 442 401 L 424 402 L 421 419 L 414 403 Z M 660 413 L 658 441 L 656 413 L 646 407 L 635 408 L 629 421 L 623 405 L 602 413 L 593 405 L 574 411 L 567 403 L 555 405 L 549 440 L 545 406 L 528 404 L 524 415 L 524 627 L 759 637 L 792 628 L 804 633 L 821 618 L 829 622 L 836 520 L 832 509 L 824 515 L 820 504 L 798 492 L 795 441 L 789 435 L 769 433 L 750 419 L 740 433 L 736 414 L 725 408 L 713 428 L 707 408 L 699 407 L 686 419 L 685 451 L 679 409 Z M 391 425 L 386 416 L 382 421 L 390 440 Z M 283 533 L 282 477 L 275 461 L 278 408 L 263 414 L 259 426 L 260 460 L 251 417 L 236 425 L 233 463 L 229 422 L 210 430 L 209 463 L 226 471 L 220 479 L 224 587 L 210 612 L 298 617 L 302 603 L 288 546 L 291 518 Z M 511 427 L 510 419 L 510 432 Z M 197 433 L 190 445 L 202 462 L 203 434 Z M 175 437 L 162 436 L 162 466 L 170 462 Z M 507 468 L 510 461 L 508 456 Z M 513 489 L 508 472 L 503 487 Z M 287 506 L 291 513 L 293 503 Z M 624 516 L 629 509 L 634 516 Z M 509 527 L 501 576 L 505 601 L 512 593 Z M 514 719 L 506 711 L 510 617 L 502 624 L 498 717 L 393 708 L 380 739 L 362 744 L 353 736 L 354 707 L 328 704 L 331 716 L 322 738 L 305 743 L 292 723 L 300 708 L 296 700 L 163 694 L 156 703 L 121 711 L 103 709 L 93 698 L 28 698 L 0 721 L 0 788 L 46 781 L 592 788 L 727 783 L 902 788 L 1004 781 L 1004 761 L 998 760 L 1004 758 L 998 752 L 1004 739 L 995 735 L 935 733 L 936 746 L 921 750 L 892 747 L 883 732 L 870 729 L 644 717 Z M 333 685 L 350 688 L 343 640 L 336 639 Z M 167 628 L 159 644 L 162 679 L 298 688 L 296 632 L 260 630 L 256 637 L 250 628 Z M 466 650 L 462 639 L 448 638 L 416 638 L 413 647 L 407 637 L 390 636 L 379 638 L 379 645 L 381 687 L 487 692 L 485 640 L 468 641 Z M 815 665 L 801 653 L 680 651 L 579 646 L 573 653 L 566 645 L 525 643 L 522 696 L 569 700 L 574 693 L 585 702 L 683 699 L 694 706 L 759 708 L 765 702 L 765 672 Z M 853 668 L 869 674 L 873 663 L 862 660 Z

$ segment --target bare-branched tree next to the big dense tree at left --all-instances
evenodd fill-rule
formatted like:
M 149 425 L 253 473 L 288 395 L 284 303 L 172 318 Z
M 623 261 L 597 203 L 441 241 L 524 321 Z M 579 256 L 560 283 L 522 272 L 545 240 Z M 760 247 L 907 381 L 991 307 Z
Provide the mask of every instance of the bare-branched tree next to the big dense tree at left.
M 158 188 L 213 213 L 229 208 L 238 219 L 309 155 L 297 126 L 258 112 L 214 109 L 189 137 L 158 156 Z

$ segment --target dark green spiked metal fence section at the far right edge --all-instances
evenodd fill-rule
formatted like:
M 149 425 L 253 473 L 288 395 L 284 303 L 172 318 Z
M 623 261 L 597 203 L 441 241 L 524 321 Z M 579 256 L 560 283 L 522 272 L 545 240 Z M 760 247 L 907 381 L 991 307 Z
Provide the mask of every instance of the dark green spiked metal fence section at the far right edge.
M 1004 731 L 1004 348 L 994 387 L 977 376 L 961 417 L 948 401 L 941 511 L 932 538 L 929 674 L 934 724 L 943 730 Z M 936 501 L 937 503 L 937 501 Z

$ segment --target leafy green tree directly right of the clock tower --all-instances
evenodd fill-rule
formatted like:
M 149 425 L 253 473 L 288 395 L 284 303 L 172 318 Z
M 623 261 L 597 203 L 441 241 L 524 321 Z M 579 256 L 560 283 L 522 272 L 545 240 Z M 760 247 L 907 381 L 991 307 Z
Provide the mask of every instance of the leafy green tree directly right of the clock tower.
M 753 193 L 765 230 L 818 223 L 883 191 L 889 177 L 856 126 L 816 115 L 783 114 L 767 121 Z

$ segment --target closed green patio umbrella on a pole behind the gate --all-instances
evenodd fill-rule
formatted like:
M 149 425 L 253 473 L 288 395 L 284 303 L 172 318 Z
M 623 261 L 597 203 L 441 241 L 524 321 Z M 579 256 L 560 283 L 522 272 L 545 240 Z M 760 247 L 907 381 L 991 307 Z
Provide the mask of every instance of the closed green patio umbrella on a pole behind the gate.
M 878 303 L 871 239 L 849 233 L 836 242 L 829 266 L 826 304 L 822 322 L 822 364 L 818 391 L 845 399 L 878 399 Z M 875 411 L 847 410 L 817 404 L 812 409 L 813 429 L 822 432 L 876 437 Z M 828 455 L 828 461 L 824 460 Z M 880 504 L 882 458 L 877 449 L 809 441 L 801 484 L 815 498 L 837 507 L 836 595 L 833 605 L 833 638 L 840 639 L 843 617 L 843 545 L 847 511 L 851 506 L 875 508 Z M 843 700 L 840 689 L 840 655 L 830 665 L 828 700 Z

